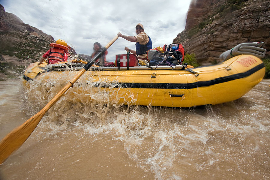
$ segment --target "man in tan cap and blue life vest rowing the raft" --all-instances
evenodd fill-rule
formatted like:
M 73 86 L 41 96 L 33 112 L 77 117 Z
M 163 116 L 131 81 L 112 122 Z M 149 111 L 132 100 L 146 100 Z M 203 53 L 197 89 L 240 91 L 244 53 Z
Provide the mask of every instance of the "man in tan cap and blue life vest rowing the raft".
M 137 34 L 136 36 L 125 36 L 122 35 L 121 32 L 117 33 L 117 35 L 130 42 L 136 42 L 136 50 L 129 49 L 128 47 L 125 47 L 125 50 L 136 54 L 138 59 L 147 60 L 146 54 L 149 49 L 152 49 L 152 40 L 149 35 L 144 32 L 143 25 L 141 23 L 135 26 L 135 32 Z

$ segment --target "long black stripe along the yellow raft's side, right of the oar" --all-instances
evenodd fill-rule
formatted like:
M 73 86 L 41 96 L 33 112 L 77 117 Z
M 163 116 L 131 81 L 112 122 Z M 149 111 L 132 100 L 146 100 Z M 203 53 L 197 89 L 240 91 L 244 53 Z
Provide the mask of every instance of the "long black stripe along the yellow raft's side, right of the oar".
M 209 85 L 215 85 L 223 82 L 232 81 L 235 79 L 241 79 L 262 69 L 264 64 L 259 64 L 256 67 L 248 70 L 244 73 L 233 74 L 230 76 L 219 77 L 212 79 L 210 81 L 199 81 L 193 83 L 131 83 L 131 82 L 118 82 L 114 88 L 146 88 L 146 89 L 192 89 L 198 87 L 204 87 Z M 96 85 L 98 86 L 98 84 Z M 103 85 L 101 87 L 106 88 L 108 85 Z

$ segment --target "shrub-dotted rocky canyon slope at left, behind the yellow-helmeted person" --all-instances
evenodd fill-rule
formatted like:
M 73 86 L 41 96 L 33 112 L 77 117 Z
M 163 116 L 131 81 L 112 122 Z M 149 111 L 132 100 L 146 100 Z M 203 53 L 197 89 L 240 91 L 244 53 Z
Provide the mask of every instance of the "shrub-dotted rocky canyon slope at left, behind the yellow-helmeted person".
M 24 24 L 0 4 L 0 79 L 13 77 L 30 62 L 40 60 L 52 42 L 51 35 Z

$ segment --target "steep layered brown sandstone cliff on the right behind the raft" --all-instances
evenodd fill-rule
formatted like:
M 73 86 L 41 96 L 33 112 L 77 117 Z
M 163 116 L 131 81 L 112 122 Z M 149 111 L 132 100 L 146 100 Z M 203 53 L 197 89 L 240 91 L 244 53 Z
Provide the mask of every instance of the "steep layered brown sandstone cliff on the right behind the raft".
M 237 44 L 258 41 L 266 42 L 269 56 L 269 0 L 192 1 L 186 29 L 173 40 L 195 53 L 201 65 L 219 62 L 219 55 Z

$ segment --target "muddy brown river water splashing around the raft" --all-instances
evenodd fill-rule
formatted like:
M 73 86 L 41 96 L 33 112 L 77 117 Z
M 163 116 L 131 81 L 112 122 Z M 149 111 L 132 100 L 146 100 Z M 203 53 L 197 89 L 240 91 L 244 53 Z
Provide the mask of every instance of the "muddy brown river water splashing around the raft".
M 1 139 L 63 87 L 46 83 L 0 82 Z M 0 165 L 0 179 L 269 179 L 269 85 L 192 108 L 104 104 L 70 88 Z

